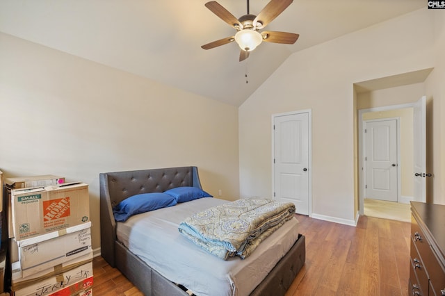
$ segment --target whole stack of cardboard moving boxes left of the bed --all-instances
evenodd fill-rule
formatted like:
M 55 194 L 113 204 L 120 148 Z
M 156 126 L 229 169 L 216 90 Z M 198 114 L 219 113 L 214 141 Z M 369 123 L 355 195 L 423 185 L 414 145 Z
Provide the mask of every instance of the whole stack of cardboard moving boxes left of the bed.
M 38 176 L 7 179 L 10 290 L 15 296 L 92 295 L 88 185 Z M 31 187 L 31 188 L 29 188 Z

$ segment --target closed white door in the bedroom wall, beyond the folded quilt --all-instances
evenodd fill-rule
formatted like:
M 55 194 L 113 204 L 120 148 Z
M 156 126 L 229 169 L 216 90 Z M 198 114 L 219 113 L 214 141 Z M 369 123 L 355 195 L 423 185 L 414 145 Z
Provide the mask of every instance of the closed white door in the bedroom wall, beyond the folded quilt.
M 309 113 L 273 117 L 274 196 L 309 215 Z

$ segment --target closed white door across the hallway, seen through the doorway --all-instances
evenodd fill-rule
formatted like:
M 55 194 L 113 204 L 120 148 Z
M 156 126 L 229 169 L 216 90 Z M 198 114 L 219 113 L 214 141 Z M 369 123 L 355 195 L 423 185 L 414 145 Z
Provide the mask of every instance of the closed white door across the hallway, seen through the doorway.
M 366 122 L 366 198 L 398 200 L 397 120 Z

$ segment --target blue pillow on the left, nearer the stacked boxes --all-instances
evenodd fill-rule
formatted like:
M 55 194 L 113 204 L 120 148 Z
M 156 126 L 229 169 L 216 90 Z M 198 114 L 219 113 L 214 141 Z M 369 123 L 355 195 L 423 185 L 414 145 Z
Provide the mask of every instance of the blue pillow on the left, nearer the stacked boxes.
M 175 197 L 161 192 L 143 193 L 124 199 L 113 208 L 114 219 L 119 222 L 127 221 L 132 215 L 166 208 L 177 204 Z

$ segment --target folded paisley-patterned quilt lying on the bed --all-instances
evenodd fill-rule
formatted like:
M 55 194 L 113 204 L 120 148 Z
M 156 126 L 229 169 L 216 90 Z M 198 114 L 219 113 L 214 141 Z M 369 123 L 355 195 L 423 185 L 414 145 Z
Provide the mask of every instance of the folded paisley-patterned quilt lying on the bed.
M 294 214 L 292 203 L 238 199 L 187 217 L 179 224 L 179 232 L 223 260 L 246 258 Z

